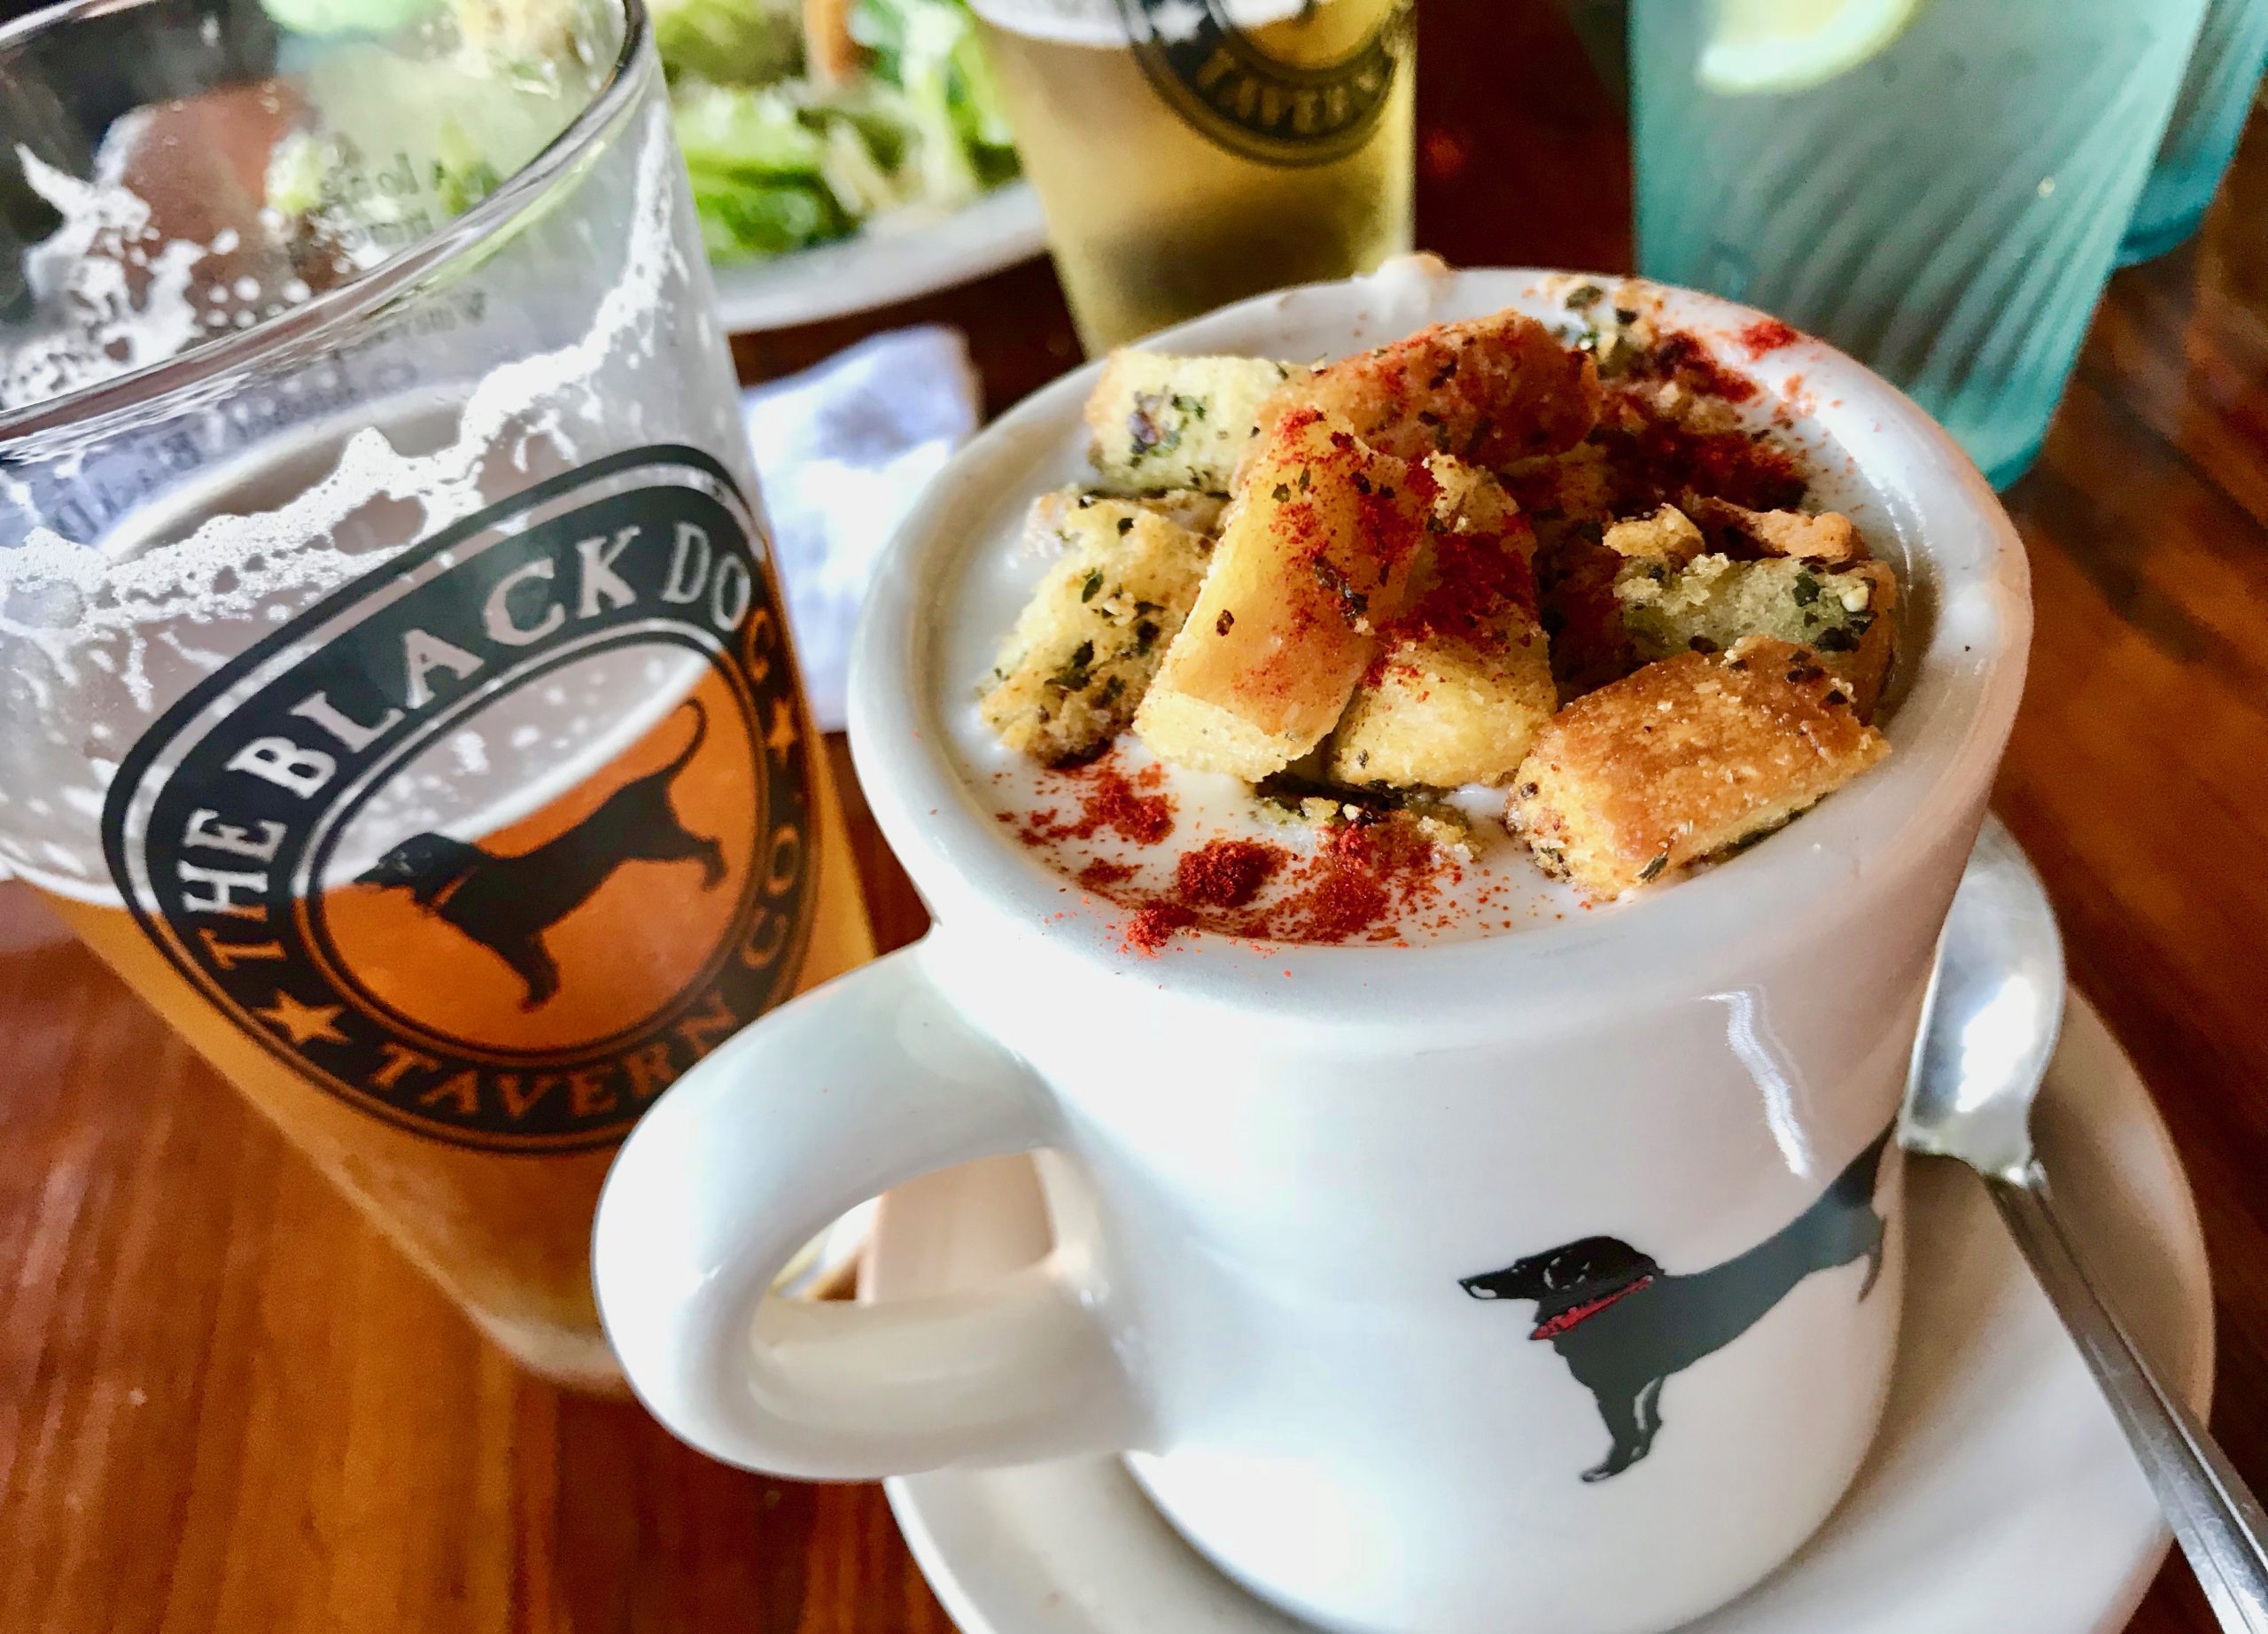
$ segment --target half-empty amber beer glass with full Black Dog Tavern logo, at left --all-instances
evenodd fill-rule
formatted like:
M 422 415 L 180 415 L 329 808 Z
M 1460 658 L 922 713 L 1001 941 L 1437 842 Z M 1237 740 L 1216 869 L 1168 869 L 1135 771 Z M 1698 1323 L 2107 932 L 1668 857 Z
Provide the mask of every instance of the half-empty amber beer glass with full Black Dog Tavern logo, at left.
M 0 862 L 606 1387 L 615 1144 L 871 946 L 637 0 L 358 23 L 0 32 Z

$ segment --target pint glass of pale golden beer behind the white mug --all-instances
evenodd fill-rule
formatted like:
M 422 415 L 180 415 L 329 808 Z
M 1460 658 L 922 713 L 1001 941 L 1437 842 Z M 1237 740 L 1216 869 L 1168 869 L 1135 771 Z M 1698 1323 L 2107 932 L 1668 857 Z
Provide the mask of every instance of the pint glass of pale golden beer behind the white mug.
M 1408 0 L 975 0 L 1089 352 L 1411 247 Z

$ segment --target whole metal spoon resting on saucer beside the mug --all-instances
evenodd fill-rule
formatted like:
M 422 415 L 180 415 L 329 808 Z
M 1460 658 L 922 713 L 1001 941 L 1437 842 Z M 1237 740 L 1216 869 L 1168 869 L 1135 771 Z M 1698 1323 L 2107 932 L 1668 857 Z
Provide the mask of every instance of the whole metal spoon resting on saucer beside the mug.
M 2064 1026 L 2064 942 L 2023 851 L 1984 822 L 1937 944 L 1898 1144 L 1984 1176 L 2009 1235 L 2118 1416 L 2220 1627 L 2268 1634 L 2268 1516 L 2105 1305 L 2032 1153 L 2032 1101 Z

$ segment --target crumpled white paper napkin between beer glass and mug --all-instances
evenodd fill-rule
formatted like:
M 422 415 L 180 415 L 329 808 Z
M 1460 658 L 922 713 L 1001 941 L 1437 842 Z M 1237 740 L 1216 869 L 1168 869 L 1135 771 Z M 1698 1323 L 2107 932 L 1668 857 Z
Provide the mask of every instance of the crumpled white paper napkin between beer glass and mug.
M 821 731 L 844 726 L 850 626 L 873 561 L 978 427 L 959 329 L 891 329 L 742 397 L 787 620 Z

